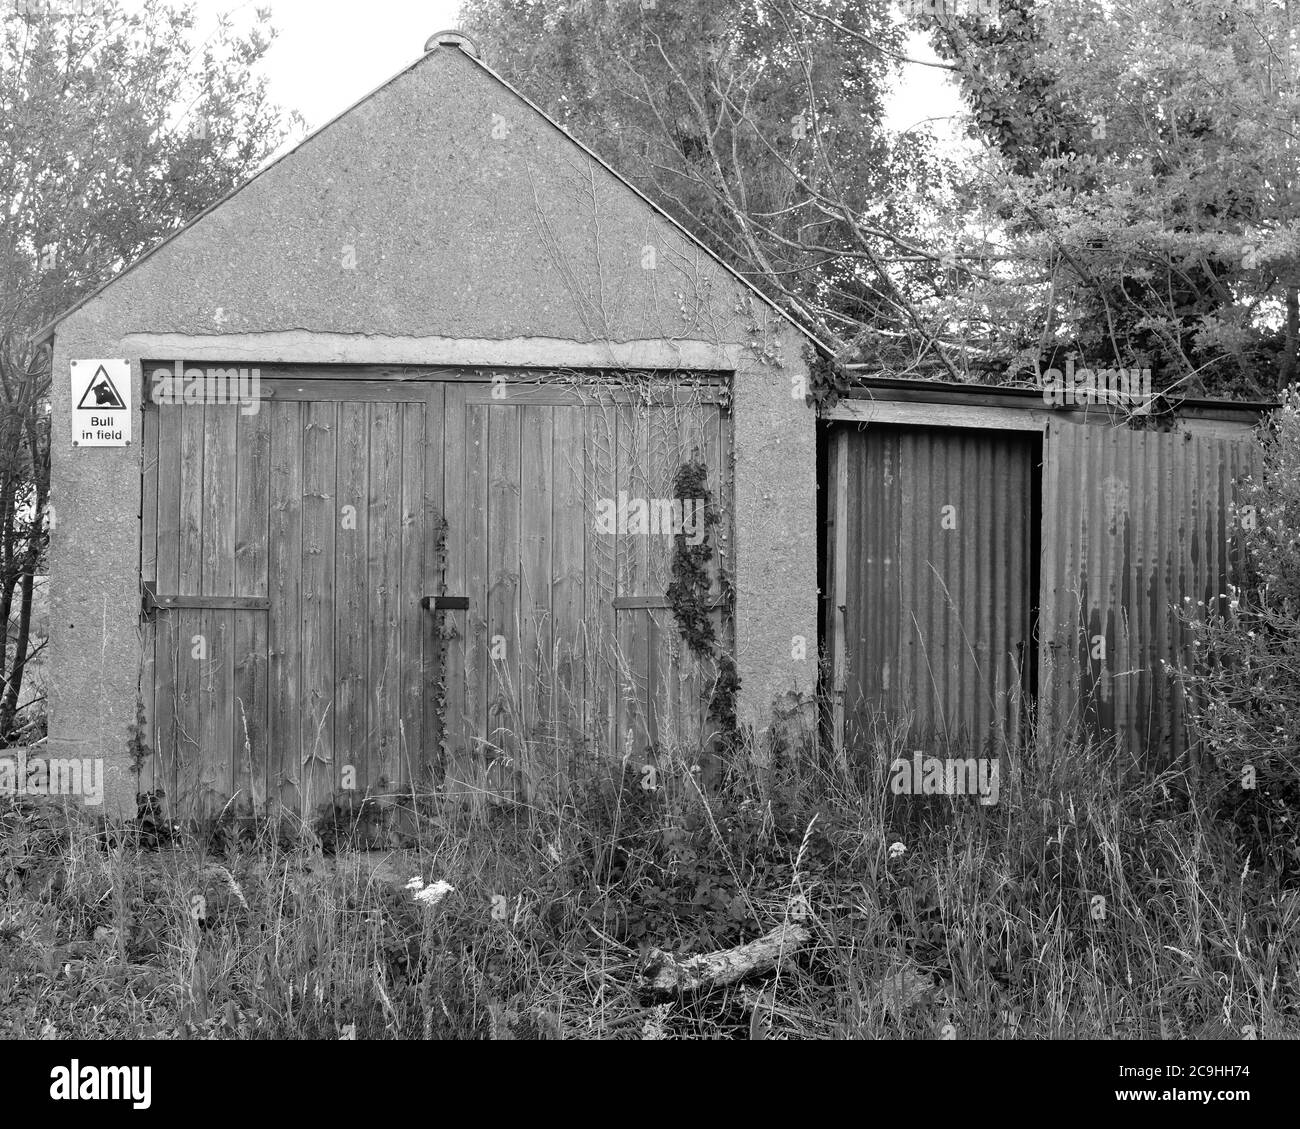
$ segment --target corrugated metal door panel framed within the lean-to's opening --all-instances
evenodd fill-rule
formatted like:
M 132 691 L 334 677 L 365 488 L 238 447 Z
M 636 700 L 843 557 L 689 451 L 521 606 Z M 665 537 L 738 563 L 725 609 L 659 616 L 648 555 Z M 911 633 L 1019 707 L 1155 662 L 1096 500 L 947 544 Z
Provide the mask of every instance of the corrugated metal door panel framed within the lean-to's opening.
M 874 424 L 835 442 L 850 758 L 881 714 L 910 714 L 909 748 L 1014 743 L 1032 659 L 1037 436 Z

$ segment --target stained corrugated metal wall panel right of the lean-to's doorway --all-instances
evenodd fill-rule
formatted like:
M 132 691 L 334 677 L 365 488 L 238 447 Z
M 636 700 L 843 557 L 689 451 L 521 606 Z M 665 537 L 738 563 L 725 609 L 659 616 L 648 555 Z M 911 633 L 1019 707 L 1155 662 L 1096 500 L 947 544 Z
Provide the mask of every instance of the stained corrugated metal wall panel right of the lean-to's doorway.
M 1234 479 L 1257 472 L 1257 447 L 1245 428 L 1052 420 L 1044 454 L 1040 722 L 1156 769 L 1187 744 L 1162 667 L 1188 652 L 1173 606 L 1227 592 Z

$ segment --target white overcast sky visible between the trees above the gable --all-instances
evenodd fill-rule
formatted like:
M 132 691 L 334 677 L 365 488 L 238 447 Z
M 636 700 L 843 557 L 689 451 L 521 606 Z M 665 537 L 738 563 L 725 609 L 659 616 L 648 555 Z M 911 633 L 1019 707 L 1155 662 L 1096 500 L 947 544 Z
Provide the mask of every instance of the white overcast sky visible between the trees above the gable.
M 456 26 L 460 10 L 459 0 L 200 0 L 199 10 L 207 25 L 218 12 L 239 21 L 255 7 L 269 8 L 280 31 L 263 64 L 270 96 L 302 113 L 308 129 L 320 127 L 419 59 L 434 31 Z M 923 36 L 913 36 L 909 53 L 933 59 Z M 508 66 L 504 72 L 511 78 Z M 887 121 L 906 129 L 957 108 L 942 72 L 909 66 Z

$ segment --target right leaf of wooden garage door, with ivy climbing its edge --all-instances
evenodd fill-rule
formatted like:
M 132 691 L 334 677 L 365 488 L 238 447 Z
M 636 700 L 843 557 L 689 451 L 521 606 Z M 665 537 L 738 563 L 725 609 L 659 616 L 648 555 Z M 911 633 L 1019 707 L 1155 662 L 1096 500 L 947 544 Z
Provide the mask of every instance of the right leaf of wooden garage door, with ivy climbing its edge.
M 447 385 L 445 591 L 468 600 L 446 613 L 450 793 L 532 800 L 594 758 L 636 774 L 708 744 L 715 663 L 676 627 L 667 514 L 677 471 L 703 463 L 723 515 L 707 531 L 718 601 L 731 528 L 719 399 L 667 384 Z

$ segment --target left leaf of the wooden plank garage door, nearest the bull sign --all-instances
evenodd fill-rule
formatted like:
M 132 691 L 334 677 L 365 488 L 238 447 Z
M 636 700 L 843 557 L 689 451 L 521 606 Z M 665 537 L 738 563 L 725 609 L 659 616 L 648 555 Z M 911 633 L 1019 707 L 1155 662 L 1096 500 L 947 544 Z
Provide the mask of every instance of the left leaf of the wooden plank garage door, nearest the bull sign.
M 432 784 L 441 385 L 263 377 L 144 429 L 142 786 L 181 818 Z M 439 473 L 428 467 L 437 464 Z

